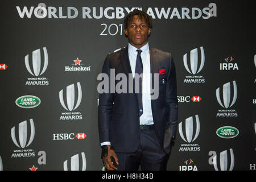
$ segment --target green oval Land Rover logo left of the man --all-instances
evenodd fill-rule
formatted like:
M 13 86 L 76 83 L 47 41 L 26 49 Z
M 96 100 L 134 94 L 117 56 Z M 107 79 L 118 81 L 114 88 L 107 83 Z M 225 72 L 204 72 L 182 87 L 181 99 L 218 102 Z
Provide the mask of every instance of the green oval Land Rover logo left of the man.
M 21 96 L 16 99 L 15 103 L 19 107 L 30 109 L 38 106 L 41 100 L 36 96 Z

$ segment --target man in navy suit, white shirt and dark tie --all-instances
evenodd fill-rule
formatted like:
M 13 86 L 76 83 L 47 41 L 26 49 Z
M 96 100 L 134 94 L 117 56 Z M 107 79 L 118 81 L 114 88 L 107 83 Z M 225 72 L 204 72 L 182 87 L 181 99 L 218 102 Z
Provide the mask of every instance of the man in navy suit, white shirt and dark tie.
M 121 81 L 102 78 L 109 84 L 98 105 L 102 160 L 108 170 L 166 170 L 177 127 L 174 60 L 148 46 L 152 20 L 146 13 L 134 10 L 124 23 L 129 44 L 106 56 L 102 67 L 109 78 L 127 77 L 120 79 L 127 84 L 121 93 L 113 92 Z

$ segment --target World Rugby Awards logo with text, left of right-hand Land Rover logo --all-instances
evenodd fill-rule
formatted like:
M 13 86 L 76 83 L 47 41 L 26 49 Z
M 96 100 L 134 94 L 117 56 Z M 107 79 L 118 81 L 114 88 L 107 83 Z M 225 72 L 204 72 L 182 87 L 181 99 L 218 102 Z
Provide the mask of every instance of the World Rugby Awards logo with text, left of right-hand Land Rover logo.
M 185 119 L 185 134 L 186 134 L 186 138 L 184 137 L 183 134 L 183 123 L 180 122 L 179 123 L 179 133 L 180 133 L 180 137 L 187 142 L 188 144 L 181 144 L 181 147 L 179 149 L 179 151 L 200 151 L 200 146 L 199 144 L 196 143 L 191 143 L 194 142 L 197 137 L 199 136 L 200 133 L 200 121 L 199 121 L 199 116 L 195 115 L 195 120 L 196 120 L 196 132 L 195 135 L 193 135 L 193 117 L 189 117 L 187 119 Z

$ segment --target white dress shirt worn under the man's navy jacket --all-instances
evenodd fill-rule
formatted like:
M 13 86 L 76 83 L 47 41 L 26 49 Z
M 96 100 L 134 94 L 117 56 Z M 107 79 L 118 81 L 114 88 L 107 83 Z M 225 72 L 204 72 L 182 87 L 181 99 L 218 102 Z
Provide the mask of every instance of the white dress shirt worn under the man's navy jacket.
M 133 78 L 135 75 L 135 68 L 136 68 L 136 60 L 137 60 L 137 52 L 136 47 L 131 46 L 128 44 L 128 55 L 129 61 L 131 66 L 131 72 L 133 73 Z M 151 109 L 151 95 L 150 95 L 150 49 L 148 43 L 140 48 L 141 52 L 141 59 L 143 64 L 143 81 L 142 81 L 142 107 L 143 107 L 143 114 L 139 117 L 139 124 L 140 125 L 153 125 L 153 116 L 152 116 L 152 109 Z M 103 145 L 110 145 L 110 142 L 102 142 L 101 146 Z

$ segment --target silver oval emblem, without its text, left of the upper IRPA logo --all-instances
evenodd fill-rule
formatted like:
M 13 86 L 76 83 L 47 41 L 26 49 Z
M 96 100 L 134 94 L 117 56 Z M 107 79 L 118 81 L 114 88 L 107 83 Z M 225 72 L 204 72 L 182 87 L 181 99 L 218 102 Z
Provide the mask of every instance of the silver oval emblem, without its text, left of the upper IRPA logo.
M 199 61 L 198 61 L 197 48 L 192 49 L 190 51 L 190 69 L 188 67 L 187 53 L 185 53 L 185 55 L 183 56 L 183 63 L 184 63 L 185 69 L 187 69 L 187 71 L 193 75 L 196 75 L 197 73 L 199 73 L 204 67 L 204 61 L 205 61 L 204 48 L 200 47 L 200 51 L 201 51 L 201 63 L 199 68 L 198 68 Z

